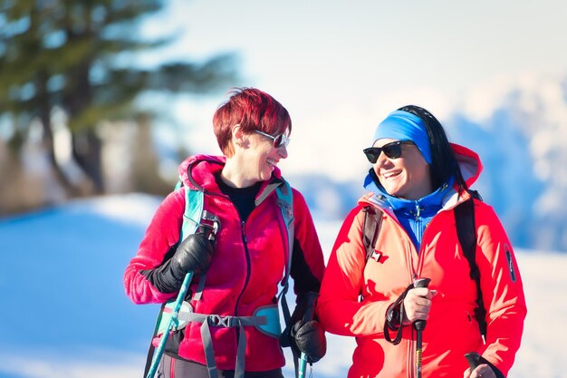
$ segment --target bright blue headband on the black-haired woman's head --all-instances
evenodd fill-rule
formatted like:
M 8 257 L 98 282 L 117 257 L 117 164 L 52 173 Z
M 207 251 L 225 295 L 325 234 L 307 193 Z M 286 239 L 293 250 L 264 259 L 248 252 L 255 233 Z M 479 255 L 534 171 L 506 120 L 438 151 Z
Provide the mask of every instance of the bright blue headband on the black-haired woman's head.
M 417 115 L 409 111 L 392 111 L 381 121 L 372 137 L 372 145 L 379 139 L 396 141 L 413 141 L 421 152 L 423 159 L 431 164 L 428 131 L 425 123 Z

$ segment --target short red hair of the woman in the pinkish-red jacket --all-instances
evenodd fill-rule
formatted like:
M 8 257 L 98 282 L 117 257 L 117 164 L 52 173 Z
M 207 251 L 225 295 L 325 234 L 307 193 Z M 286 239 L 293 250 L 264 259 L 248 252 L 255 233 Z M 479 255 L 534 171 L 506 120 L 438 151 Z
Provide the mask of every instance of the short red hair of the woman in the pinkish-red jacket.
M 230 97 L 221 103 L 213 116 L 213 128 L 218 147 L 230 157 L 234 153 L 230 140 L 232 129 L 240 124 L 242 131 L 255 130 L 270 135 L 292 132 L 292 119 L 280 102 L 255 88 L 233 88 Z

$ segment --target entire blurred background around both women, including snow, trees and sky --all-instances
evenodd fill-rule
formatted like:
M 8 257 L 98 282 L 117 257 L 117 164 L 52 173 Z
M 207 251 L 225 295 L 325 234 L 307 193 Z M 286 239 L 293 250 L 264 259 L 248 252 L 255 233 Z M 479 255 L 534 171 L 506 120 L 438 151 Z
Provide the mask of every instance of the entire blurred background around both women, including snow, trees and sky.
M 566 376 L 566 16 L 555 0 L 0 0 L 0 377 L 139 375 L 158 308 L 130 304 L 123 269 L 179 162 L 220 154 L 212 116 L 242 86 L 290 111 L 280 167 L 326 257 L 389 111 L 423 106 L 476 150 L 473 188 L 532 279 L 517 372 Z M 334 345 L 329 377 L 352 344 Z M 85 358 L 111 363 L 75 372 Z

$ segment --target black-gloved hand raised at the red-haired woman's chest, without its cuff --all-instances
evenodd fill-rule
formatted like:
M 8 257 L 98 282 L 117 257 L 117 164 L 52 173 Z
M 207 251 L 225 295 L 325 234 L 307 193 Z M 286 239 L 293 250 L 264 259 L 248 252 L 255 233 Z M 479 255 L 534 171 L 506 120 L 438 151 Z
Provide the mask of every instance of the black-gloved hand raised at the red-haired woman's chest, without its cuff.
M 191 234 L 179 245 L 175 255 L 171 257 L 171 273 L 183 280 L 187 272 L 202 275 L 207 272 L 215 246 L 212 240 L 202 233 Z

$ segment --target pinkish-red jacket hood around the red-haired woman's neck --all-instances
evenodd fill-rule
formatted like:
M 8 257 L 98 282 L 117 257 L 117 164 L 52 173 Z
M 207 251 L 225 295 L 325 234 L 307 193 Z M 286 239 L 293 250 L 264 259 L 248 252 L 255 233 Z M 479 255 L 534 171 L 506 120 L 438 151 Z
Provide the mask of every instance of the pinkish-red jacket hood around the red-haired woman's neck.
M 225 156 L 193 155 L 179 164 L 179 179 L 183 182 L 183 185 L 190 189 L 217 191 L 218 185 L 216 184 L 215 174 L 222 170 L 225 164 Z M 281 178 L 281 170 L 274 167 L 272 179 Z

